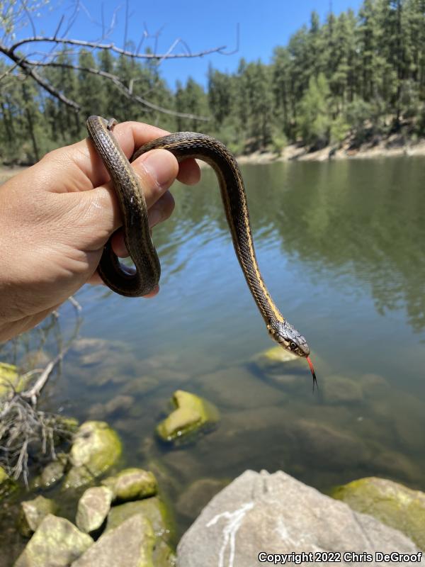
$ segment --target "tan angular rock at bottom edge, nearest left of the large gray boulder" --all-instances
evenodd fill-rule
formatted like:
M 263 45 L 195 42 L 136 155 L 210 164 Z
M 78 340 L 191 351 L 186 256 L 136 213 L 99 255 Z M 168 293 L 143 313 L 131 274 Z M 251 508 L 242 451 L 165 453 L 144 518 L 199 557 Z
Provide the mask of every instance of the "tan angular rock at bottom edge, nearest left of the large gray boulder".
M 137 514 L 102 534 L 72 567 L 154 567 L 154 541 L 149 520 Z

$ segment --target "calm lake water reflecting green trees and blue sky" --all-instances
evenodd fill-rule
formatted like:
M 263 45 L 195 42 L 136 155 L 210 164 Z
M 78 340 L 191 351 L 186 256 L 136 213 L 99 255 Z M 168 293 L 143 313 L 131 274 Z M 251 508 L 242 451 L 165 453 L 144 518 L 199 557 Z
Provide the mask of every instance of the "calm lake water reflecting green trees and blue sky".
M 425 160 L 242 172 L 263 278 L 310 344 L 319 392 L 305 361 L 296 380 L 255 364 L 273 343 L 205 169 L 198 186 L 175 187 L 174 215 L 154 230 L 156 298 L 78 294 L 90 340 L 65 358 L 50 408 L 113 425 L 125 464 L 157 472 L 181 530 L 246 468 L 281 468 L 325 492 L 372 475 L 425 490 Z M 72 328 L 71 306 L 60 324 Z M 215 403 L 221 420 L 170 449 L 154 427 L 179 388 Z M 118 395 L 122 407 L 107 405 Z

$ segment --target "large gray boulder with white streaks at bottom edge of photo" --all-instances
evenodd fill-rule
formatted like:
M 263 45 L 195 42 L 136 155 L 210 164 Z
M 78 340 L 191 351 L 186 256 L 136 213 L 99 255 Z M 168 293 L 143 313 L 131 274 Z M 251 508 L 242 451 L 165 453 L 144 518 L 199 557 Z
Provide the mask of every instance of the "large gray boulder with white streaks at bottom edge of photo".
M 339 566 L 367 562 L 382 567 L 385 560 L 375 555 L 378 552 L 416 554 L 416 565 L 425 566 L 421 552 L 401 532 L 353 512 L 282 471 L 246 471 L 217 494 L 183 535 L 177 564 L 257 567 L 283 564 L 286 559 L 293 565 L 297 557 L 283 555 L 304 552 L 311 555 L 303 563 L 325 565 L 339 558 L 329 556 L 329 551 L 341 554 Z M 320 555 L 324 552 L 327 555 Z M 409 557 L 401 558 L 393 556 L 385 565 L 412 565 Z

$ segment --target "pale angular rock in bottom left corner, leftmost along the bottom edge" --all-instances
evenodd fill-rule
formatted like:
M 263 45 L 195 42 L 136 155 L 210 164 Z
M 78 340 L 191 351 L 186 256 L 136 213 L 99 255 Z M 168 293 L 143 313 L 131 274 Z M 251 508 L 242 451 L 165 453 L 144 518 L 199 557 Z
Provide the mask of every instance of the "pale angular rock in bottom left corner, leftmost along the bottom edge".
M 35 530 L 14 567 L 68 567 L 93 539 L 68 520 L 48 514 Z

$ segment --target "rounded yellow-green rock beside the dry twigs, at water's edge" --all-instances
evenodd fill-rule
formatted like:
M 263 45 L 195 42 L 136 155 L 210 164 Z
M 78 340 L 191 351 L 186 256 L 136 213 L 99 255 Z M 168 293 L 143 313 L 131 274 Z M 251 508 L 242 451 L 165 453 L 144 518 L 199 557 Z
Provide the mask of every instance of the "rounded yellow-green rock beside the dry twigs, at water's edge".
M 72 468 L 64 479 L 64 488 L 77 488 L 89 483 L 111 468 L 120 454 L 120 438 L 106 422 L 84 422 L 69 451 Z

